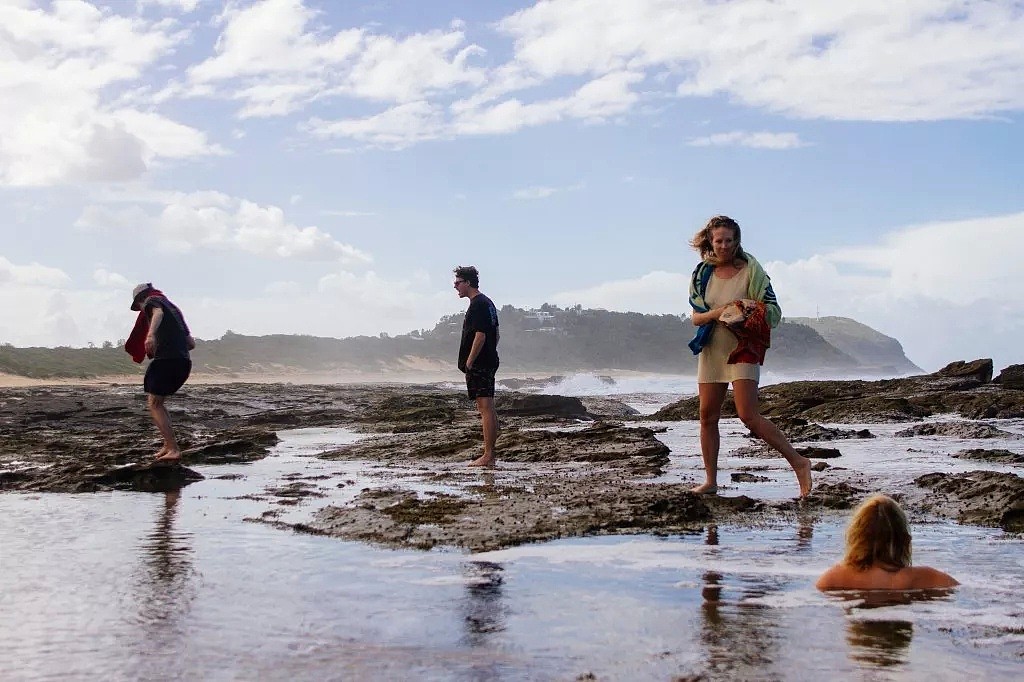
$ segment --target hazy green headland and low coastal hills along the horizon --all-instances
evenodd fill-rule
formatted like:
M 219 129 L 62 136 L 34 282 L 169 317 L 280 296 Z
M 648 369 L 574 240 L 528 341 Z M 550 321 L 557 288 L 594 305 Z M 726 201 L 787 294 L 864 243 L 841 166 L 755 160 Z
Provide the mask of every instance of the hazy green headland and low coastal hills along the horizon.
M 693 336 L 688 318 L 639 312 L 612 312 L 581 306 L 544 305 L 500 311 L 499 352 L 506 371 L 561 373 L 635 370 L 666 374 L 696 371 L 686 344 Z M 396 372 L 451 368 L 459 349 L 463 314 L 442 317 L 430 330 L 399 336 L 332 339 L 274 334 L 244 336 L 227 332 L 200 341 L 195 371 L 230 375 L 298 371 Z M 839 321 L 818 325 L 824 321 Z M 817 327 L 809 322 L 814 322 Z M 827 335 L 827 336 L 826 336 Z M 852 319 L 787 318 L 773 331 L 767 366 L 782 372 L 906 374 L 920 370 L 895 339 Z M 118 346 L 101 348 L 14 348 L 0 346 L 0 372 L 28 377 L 93 377 L 139 371 Z

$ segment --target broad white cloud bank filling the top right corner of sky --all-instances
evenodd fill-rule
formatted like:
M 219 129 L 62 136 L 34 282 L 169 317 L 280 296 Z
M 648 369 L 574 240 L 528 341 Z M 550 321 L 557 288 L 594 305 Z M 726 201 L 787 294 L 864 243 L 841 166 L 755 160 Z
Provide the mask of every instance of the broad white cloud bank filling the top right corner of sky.
M 941 120 L 1024 106 L 1024 14 L 1011 0 L 551 0 L 498 28 L 515 41 L 507 71 L 544 80 L 626 66 L 675 75 L 682 96 L 725 94 L 799 118 Z

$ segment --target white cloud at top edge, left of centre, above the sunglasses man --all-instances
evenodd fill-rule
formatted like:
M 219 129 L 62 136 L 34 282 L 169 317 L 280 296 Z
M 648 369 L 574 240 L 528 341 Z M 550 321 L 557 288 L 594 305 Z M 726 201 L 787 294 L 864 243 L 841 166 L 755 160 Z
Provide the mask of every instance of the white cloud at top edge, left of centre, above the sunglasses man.
M 482 50 L 466 44 L 459 24 L 398 39 L 364 29 L 326 35 L 311 26 L 315 17 L 301 0 L 229 5 L 216 54 L 188 70 L 190 84 L 242 100 L 246 118 L 284 116 L 337 95 L 410 103 L 483 82 L 469 63 Z

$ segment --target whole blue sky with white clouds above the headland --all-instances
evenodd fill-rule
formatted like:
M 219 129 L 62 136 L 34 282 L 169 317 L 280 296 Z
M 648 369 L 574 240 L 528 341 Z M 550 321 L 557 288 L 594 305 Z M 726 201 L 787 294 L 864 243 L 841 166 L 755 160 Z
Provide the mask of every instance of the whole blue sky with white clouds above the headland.
M 688 314 L 717 214 L 785 316 L 1024 363 L 1019 0 L 0 0 L 0 342 L 153 282 L 193 333 Z M 770 356 L 769 356 L 770 364 Z

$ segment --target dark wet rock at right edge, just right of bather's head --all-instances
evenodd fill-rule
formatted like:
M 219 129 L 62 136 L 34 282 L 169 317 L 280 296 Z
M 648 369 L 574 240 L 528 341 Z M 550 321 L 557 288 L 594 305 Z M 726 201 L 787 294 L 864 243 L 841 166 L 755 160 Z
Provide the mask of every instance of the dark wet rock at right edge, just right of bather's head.
M 1024 478 L 997 471 L 931 473 L 914 482 L 928 491 L 921 508 L 962 523 L 1024 530 Z

